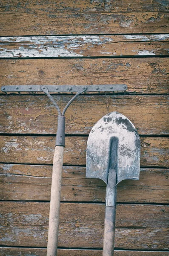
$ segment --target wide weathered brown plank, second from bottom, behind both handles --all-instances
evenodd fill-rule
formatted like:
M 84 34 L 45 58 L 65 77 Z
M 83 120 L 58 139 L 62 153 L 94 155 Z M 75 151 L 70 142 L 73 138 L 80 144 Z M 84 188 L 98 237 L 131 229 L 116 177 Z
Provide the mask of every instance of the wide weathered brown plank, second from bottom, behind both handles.
M 59 247 L 100 248 L 104 204 L 62 203 Z M 49 203 L 1 202 L 1 245 L 44 247 L 47 244 Z M 115 247 L 168 250 L 166 205 L 118 204 Z

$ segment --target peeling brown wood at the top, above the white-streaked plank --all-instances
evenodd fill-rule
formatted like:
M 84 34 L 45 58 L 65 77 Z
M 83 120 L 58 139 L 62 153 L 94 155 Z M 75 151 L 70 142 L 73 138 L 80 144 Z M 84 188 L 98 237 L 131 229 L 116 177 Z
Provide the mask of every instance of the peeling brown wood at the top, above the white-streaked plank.
M 153 1 L 153 4 L 148 1 L 140 4 L 138 0 L 135 3 L 132 0 L 130 4 L 128 0 L 123 3 L 121 1 L 99 3 L 88 0 L 80 5 L 78 1 L 73 2 L 64 1 L 60 5 L 60 1 L 53 0 L 50 2 L 29 0 L 26 3 L 21 0 L 3 0 L 0 12 L 1 35 L 169 32 L 167 12 L 169 5 L 166 1 Z

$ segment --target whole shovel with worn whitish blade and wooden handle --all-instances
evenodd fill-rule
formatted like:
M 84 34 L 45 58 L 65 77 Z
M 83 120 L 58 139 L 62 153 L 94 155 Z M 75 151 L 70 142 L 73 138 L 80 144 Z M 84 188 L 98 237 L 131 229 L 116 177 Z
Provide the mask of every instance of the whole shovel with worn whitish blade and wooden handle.
M 126 116 L 112 112 L 92 128 L 86 153 L 86 177 L 99 178 L 106 186 L 103 256 L 113 256 L 117 184 L 139 180 L 140 137 Z

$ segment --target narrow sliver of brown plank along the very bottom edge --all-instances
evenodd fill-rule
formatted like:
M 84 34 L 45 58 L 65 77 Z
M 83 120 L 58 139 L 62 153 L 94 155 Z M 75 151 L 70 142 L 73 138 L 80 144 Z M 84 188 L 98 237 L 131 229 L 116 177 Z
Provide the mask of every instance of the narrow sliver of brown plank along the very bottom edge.
M 1 256 L 46 256 L 45 248 L 15 248 L 0 247 Z M 102 256 L 102 250 L 85 250 L 85 249 L 58 249 L 58 256 Z M 115 250 L 115 256 L 168 256 L 169 252 L 163 251 L 131 251 L 131 250 Z

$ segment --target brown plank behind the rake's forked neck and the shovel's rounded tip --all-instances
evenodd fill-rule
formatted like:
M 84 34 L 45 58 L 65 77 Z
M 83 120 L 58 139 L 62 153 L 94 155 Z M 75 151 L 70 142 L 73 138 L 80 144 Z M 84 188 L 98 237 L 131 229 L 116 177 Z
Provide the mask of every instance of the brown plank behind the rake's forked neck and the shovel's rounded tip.
M 72 96 L 54 98 L 63 109 Z M 93 125 L 112 111 L 127 116 L 139 134 L 169 134 L 168 99 L 168 96 L 79 96 L 66 111 L 66 134 L 89 134 Z M 1 96 L 0 109 L 1 133 L 56 133 L 57 111 L 47 96 Z

